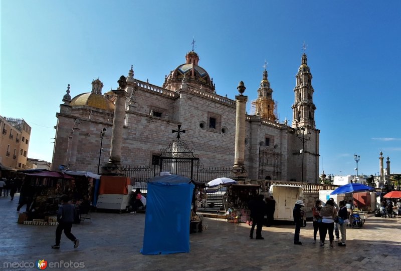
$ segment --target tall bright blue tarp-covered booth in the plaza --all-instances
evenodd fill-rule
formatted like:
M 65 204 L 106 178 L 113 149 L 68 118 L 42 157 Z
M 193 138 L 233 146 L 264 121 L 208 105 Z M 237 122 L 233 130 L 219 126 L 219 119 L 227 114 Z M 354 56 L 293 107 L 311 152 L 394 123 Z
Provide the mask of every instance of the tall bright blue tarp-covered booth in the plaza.
M 142 254 L 189 252 L 189 220 L 194 184 L 189 178 L 165 175 L 147 183 Z

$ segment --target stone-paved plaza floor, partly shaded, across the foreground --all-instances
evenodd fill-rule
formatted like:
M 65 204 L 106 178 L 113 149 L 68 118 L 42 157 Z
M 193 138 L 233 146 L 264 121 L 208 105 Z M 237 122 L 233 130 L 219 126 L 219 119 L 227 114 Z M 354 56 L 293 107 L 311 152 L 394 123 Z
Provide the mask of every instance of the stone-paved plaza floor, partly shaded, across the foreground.
M 93 212 L 91 222 L 73 225 L 72 232 L 80 239 L 79 247 L 74 249 L 73 243 L 63 234 L 61 248 L 55 250 L 51 245 L 54 244 L 56 226 L 16 223 L 17 203 L 18 195 L 14 201 L 10 201 L 10 197 L 0 198 L 0 270 L 34 270 L 37 268 L 5 268 L 4 264 L 18 262 L 32 266 L 40 259 L 47 260 L 48 264 L 64 261 L 62 264 L 67 267 L 81 264 L 84 267 L 74 269 L 82 270 L 355 271 L 401 268 L 401 218 L 369 216 L 362 229 L 347 229 L 346 247 L 334 248 L 329 248 L 328 244 L 321 248 L 312 243 L 311 222 L 301 228 L 303 245 L 294 245 L 292 225 L 263 227 L 265 239 L 256 240 L 249 238 L 250 226 L 245 223 L 205 218 L 208 229 L 190 234 L 189 253 L 142 255 L 144 214 Z

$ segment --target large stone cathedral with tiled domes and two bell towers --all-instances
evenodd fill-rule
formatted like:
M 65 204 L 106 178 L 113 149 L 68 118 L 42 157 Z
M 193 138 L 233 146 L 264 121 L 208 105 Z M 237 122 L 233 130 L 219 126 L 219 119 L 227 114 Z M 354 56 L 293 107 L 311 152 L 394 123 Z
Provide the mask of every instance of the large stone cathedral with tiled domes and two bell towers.
M 197 53 L 188 52 L 185 63 L 169 72 L 162 86 L 135 78 L 132 66 L 126 85 L 122 165 L 157 164 L 161 150 L 177 137 L 172 130 L 180 125 L 185 130 L 180 139 L 203 167 L 233 167 L 236 101 L 218 94 L 213 78 L 199 66 Z M 53 170 L 98 172 L 99 165 L 109 161 L 116 95 L 113 91 L 102 93 L 102 88 L 98 78 L 92 81 L 91 92 L 72 98 L 68 85 L 56 114 Z M 246 115 L 244 164 L 248 178 L 318 182 L 320 131 L 315 126 L 306 54 L 296 73 L 290 124 L 277 118 L 266 65 L 259 89 L 247 89 L 246 93 L 252 91 L 258 98 L 252 101 L 255 113 Z

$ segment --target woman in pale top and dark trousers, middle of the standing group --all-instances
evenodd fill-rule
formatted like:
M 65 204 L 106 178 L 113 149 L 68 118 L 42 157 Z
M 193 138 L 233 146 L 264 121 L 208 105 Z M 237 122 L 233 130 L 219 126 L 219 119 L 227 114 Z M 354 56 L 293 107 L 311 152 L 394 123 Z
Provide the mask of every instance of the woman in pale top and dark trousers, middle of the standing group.
M 329 233 L 330 248 L 333 248 L 334 240 L 334 218 L 337 216 L 337 211 L 334 208 L 334 201 L 327 200 L 326 205 L 320 209 L 322 222 L 319 225 L 320 246 L 324 247 L 324 240 L 327 232 Z

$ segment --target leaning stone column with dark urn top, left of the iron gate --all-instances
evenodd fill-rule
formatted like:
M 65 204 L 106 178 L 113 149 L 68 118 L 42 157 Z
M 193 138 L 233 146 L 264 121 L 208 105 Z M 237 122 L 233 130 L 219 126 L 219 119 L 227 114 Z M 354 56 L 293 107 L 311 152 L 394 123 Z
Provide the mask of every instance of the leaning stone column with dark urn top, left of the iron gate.
M 113 90 L 113 93 L 116 95 L 116 103 L 114 107 L 113 131 L 111 133 L 110 158 L 107 165 L 102 167 L 102 173 L 115 175 L 119 175 L 118 166 L 121 164 L 121 146 L 127 95 L 125 91 L 127 88 L 125 77 L 121 76 L 117 82 L 120 87 L 117 90 Z

